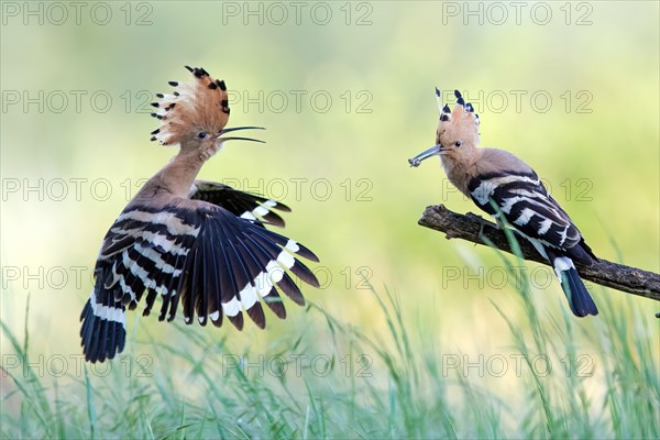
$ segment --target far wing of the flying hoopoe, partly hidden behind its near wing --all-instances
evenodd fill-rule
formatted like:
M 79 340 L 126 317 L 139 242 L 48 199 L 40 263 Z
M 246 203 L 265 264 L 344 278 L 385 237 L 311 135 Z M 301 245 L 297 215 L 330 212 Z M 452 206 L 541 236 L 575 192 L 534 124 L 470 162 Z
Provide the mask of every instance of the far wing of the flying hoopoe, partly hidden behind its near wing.
M 284 227 L 284 220 L 273 212 L 273 209 L 283 212 L 292 211 L 289 207 L 276 200 L 208 180 L 195 180 L 190 188 L 190 198 L 218 205 L 243 219 L 263 220 L 276 227 Z

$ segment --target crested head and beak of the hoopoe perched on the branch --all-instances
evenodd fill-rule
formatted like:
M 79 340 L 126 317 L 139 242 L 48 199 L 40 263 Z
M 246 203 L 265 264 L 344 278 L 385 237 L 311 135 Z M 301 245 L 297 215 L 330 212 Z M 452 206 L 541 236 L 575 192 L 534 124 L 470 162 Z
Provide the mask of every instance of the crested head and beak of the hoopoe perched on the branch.
M 440 155 L 446 158 L 460 158 L 472 154 L 479 144 L 479 116 L 474 107 L 465 102 L 461 92 L 454 90 L 457 103 L 453 110 L 442 103 L 440 90 L 436 88 L 440 121 L 436 131 L 436 145 L 408 160 L 410 166 L 419 166 L 421 161 Z

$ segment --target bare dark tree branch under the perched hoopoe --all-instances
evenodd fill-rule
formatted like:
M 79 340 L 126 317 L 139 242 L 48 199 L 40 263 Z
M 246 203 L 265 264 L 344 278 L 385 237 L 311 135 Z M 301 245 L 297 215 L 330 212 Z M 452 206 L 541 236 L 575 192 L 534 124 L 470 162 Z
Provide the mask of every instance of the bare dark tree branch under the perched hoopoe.
M 462 239 L 477 244 L 485 244 L 482 233 L 498 249 L 513 253 L 506 234 L 493 222 L 472 212 L 463 216 L 447 209 L 443 205 L 427 207 L 418 223 L 422 227 L 444 232 L 448 240 Z M 527 240 L 519 240 L 520 251 L 525 260 L 550 265 Z M 590 282 L 644 296 L 660 301 L 660 275 L 623 264 L 598 260 L 591 266 L 576 264 L 580 276 Z

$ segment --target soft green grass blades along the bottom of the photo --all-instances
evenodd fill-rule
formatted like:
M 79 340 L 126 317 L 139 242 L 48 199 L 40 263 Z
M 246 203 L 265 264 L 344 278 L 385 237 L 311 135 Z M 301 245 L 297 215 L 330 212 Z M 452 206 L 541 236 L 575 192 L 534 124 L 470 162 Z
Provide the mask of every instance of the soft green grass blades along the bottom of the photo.
M 660 438 L 659 362 L 651 342 L 658 321 L 632 300 L 615 306 L 605 289 L 592 323 L 566 311 L 547 314 L 537 306 L 526 272 L 517 270 L 519 257 L 499 256 L 517 277 L 516 301 L 529 318 L 493 304 L 508 329 L 501 336 L 506 349 L 477 358 L 477 365 L 472 354 L 440 344 L 438 333 L 451 332 L 442 323 L 432 333 L 420 331 L 387 288 L 370 290 L 377 305 L 374 329 L 382 332 L 358 328 L 311 302 L 299 331 L 263 350 L 245 346 L 237 353 L 226 337 L 175 323 L 185 345 L 147 336 L 146 343 L 131 342 L 111 363 L 85 364 L 64 376 L 44 374 L 29 362 L 38 353 L 31 352 L 28 328 L 20 341 L 0 321 L 9 342 L 1 435 Z M 490 364 L 502 360 L 505 374 Z

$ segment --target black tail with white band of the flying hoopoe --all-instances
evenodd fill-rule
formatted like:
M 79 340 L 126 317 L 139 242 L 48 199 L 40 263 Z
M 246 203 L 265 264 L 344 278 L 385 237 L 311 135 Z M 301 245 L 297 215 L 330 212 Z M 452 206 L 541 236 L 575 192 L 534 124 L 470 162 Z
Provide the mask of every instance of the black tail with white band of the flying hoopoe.
M 92 363 L 114 358 L 123 350 L 127 340 L 125 307 L 114 301 L 111 294 L 103 296 L 99 300 L 95 288 L 80 314 L 82 352 L 85 359 Z

